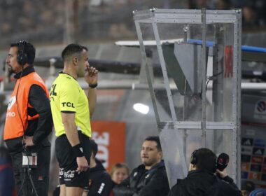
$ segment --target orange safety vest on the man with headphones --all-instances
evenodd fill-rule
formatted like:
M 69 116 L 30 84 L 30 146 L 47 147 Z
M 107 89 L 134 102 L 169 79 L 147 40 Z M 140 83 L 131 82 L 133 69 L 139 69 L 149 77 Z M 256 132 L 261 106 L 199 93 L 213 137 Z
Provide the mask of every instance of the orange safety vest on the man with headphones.
M 20 86 L 18 87 L 18 85 Z M 27 76 L 18 79 L 8 102 L 3 140 L 22 137 L 25 130 L 27 130 L 28 120 L 38 118 L 38 114 L 29 116 L 27 113 L 28 108 L 33 108 L 33 106 L 29 104 L 29 90 L 31 85 L 39 85 L 42 87 L 49 98 L 48 89 L 36 72 L 31 72 Z

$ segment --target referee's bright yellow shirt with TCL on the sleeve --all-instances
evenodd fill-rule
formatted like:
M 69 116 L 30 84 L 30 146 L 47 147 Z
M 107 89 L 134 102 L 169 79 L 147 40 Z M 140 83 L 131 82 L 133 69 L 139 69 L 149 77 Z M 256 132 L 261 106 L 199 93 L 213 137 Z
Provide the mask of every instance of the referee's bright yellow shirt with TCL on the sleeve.
M 61 112 L 75 113 L 77 130 L 81 130 L 87 137 L 92 136 L 89 102 L 84 90 L 75 78 L 67 73 L 59 73 L 50 90 L 50 105 L 55 136 L 59 137 L 66 133 Z

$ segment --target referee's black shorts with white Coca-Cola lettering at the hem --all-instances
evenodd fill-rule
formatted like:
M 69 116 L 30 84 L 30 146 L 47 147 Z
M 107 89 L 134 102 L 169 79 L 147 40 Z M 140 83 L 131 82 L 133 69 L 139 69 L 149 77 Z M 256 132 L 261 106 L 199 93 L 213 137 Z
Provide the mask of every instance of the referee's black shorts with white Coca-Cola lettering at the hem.
M 91 146 L 90 138 L 78 131 L 80 144 L 83 146 L 83 154 L 90 165 Z M 89 169 L 86 172 L 76 172 L 78 165 L 76 156 L 66 134 L 55 140 L 55 153 L 59 162 L 59 184 L 68 187 L 84 188 L 89 183 Z

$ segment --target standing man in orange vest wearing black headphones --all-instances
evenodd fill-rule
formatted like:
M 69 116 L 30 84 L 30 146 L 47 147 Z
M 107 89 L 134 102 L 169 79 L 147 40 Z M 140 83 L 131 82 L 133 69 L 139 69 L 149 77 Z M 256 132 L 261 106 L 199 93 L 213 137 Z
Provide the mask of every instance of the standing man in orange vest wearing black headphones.
M 8 102 L 3 139 L 12 158 L 16 191 L 25 196 L 48 195 L 50 169 L 49 92 L 34 70 L 34 58 L 34 45 L 27 41 L 11 43 L 6 58 L 9 71 L 15 73 L 15 87 Z

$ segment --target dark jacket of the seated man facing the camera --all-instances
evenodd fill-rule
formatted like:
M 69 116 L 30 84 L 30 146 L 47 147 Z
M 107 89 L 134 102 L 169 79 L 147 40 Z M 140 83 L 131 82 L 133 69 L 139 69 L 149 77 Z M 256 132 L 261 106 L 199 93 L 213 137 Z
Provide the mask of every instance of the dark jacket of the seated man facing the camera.
M 163 161 L 150 170 L 139 165 L 125 181 L 113 188 L 115 196 L 166 196 L 168 192 L 169 183 Z

